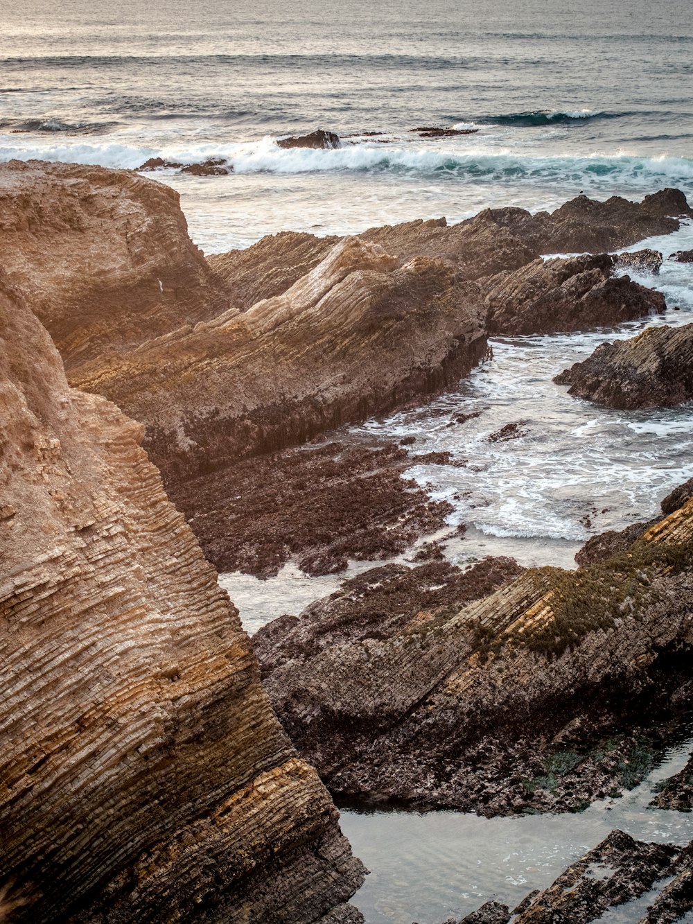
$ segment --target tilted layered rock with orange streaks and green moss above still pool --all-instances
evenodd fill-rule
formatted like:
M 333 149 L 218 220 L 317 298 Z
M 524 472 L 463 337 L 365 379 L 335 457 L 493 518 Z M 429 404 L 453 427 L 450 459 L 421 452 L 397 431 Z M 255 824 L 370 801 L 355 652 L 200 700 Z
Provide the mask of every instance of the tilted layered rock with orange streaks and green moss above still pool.
M 580 808 L 637 782 L 659 719 L 687 702 L 692 539 L 687 501 L 608 561 L 531 569 L 386 637 L 345 624 L 317 652 L 292 642 L 288 658 L 282 638 L 298 627 L 270 627 L 265 686 L 334 793 L 486 814 Z

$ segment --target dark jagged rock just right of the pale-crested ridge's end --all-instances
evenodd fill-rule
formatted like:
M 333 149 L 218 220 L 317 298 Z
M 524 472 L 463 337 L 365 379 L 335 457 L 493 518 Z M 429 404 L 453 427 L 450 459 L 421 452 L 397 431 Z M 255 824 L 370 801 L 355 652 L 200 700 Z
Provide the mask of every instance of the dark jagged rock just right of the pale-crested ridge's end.
M 535 260 L 483 282 L 489 334 L 553 334 L 615 326 L 666 302 L 627 276 L 614 276 L 608 254 Z

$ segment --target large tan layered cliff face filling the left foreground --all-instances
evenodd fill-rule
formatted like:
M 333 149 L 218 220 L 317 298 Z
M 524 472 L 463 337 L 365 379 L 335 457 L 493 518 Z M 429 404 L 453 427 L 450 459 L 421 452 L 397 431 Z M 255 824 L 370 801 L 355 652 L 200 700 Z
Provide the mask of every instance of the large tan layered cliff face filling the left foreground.
M 68 388 L 4 275 L 0 395 L 11 919 L 360 920 L 363 870 L 140 424 Z

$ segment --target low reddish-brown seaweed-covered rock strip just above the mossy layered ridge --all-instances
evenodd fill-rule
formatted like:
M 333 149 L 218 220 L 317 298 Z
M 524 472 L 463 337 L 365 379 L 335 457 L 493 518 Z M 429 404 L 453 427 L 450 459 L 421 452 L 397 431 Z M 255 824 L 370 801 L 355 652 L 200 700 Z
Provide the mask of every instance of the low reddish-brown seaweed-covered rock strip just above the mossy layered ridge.
M 512 558 L 489 557 L 466 570 L 447 562 L 407 568 L 383 565 L 352 577 L 298 616 L 285 615 L 262 626 L 253 647 L 264 675 L 298 658 L 367 638 L 391 638 L 412 617 L 431 618 L 444 607 L 479 600 L 522 573 Z

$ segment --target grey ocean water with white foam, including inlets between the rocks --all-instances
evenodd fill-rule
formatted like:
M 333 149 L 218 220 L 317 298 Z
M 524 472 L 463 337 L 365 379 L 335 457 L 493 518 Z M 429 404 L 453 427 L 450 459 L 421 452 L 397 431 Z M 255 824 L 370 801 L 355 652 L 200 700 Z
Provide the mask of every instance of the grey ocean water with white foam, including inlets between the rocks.
M 478 130 L 443 139 L 412 131 L 427 126 Z M 342 146 L 275 144 L 314 128 L 336 132 Z M 352 234 L 441 215 L 452 223 L 490 206 L 550 209 L 580 191 L 639 200 L 677 187 L 693 202 L 690 0 L 5 0 L 0 161 L 136 168 L 152 157 L 225 164 L 224 176 L 148 174 L 178 190 L 206 253 L 286 229 Z M 693 247 L 693 225 L 648 243 L 668 258 Z M 460 565 L 506 553 L 526 565 L 572 566 L 590 535 L 654 516 L 663 495 L 693 476 L 693 407 L 608 411 L 552 382 L 605 339 L 693 320 L 693 264 L 665 259 L 659 276 L 638 281 L 664 292 L 662 318 L 497 339 L 493 361 L 431 405 L 341 438 L 414 435 L 418 451 L 467 460 L 409 472 L 453 503 L 451 527 L 468 524 L 448 549 Z M 480 417 L 448 426 L 470 410 Z M 486 441 L 514 421 L 525 436 Z M 265 582 L 223 582 L 252 631 L 339 579 L 310 579 L 290 565 Z M 646 812 L 649 789 L 638 794 L 624 803 L 621 826 L 690 838 L 686 820 Z M 346 833 L 372 869 L 355 904 L 370 924 L 436 924 L 489 898 L 520 897 L 594 846 L 612 808 L 548 827 L 536 818 L 345 812 Z M 618 919 L 639 917 L 636 909 Z

